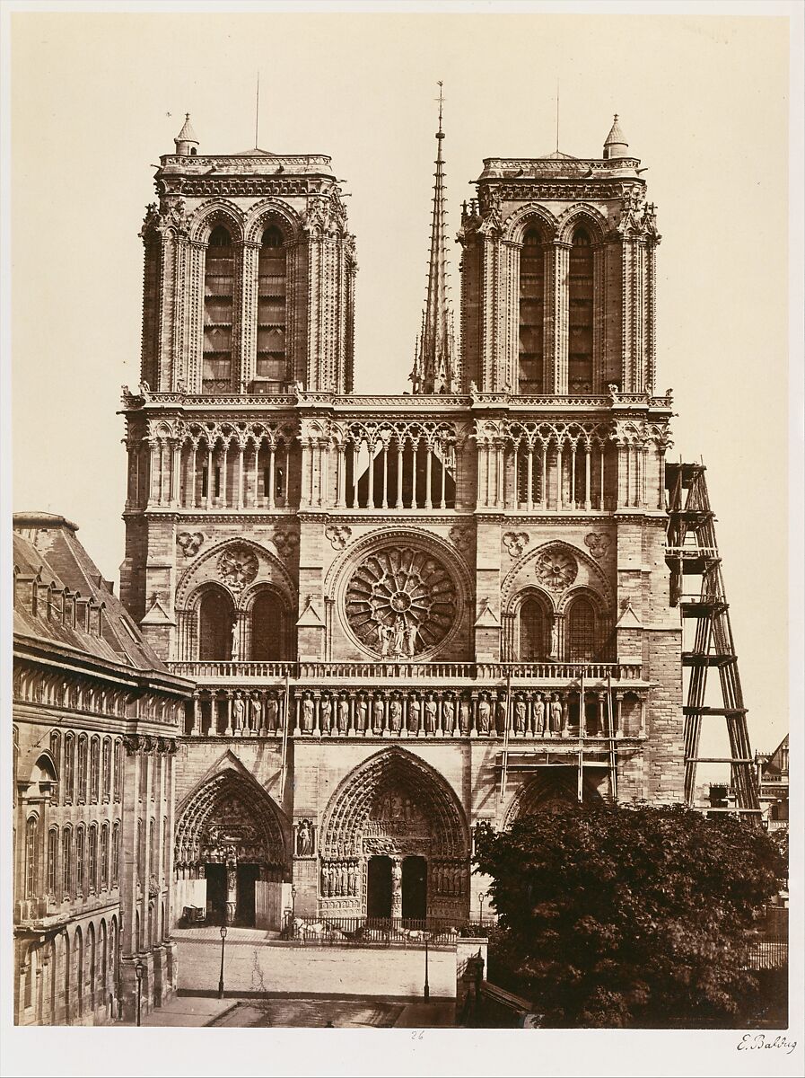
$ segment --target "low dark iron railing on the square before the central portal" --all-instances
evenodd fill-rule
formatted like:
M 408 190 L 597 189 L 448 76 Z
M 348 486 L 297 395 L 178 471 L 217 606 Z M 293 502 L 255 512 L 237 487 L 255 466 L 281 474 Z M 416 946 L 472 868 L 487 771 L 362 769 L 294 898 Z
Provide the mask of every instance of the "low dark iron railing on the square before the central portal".
M 446 917 L 293 917 L 282 938 L 300 946 L 424 948 L 455 943 L 466 925 Z

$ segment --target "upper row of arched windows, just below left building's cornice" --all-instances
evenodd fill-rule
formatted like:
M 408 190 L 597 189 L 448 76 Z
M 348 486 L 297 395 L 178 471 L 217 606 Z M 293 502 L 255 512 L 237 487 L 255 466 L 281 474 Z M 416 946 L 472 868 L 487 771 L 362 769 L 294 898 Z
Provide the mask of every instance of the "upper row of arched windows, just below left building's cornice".
M 123 799 L 123 742 L 72 731 L 51 733 L 51 756 L 61 775 L 61 804 L 97 804 Z

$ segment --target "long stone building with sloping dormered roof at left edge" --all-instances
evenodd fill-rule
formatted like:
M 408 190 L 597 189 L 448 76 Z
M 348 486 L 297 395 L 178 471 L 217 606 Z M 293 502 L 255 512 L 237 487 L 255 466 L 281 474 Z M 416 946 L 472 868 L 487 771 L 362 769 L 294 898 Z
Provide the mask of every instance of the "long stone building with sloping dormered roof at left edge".
M 190 687 L 75 536 L 14 516 L 14 1013 L 132 1018 L 175 987 L 176 738 Z

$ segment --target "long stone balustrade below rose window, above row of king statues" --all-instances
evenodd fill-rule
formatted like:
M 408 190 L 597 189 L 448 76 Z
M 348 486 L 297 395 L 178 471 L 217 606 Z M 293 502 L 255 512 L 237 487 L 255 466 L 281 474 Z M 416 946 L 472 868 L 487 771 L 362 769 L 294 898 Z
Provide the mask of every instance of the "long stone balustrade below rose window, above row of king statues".
M 341 678 L 344 680 L 389 678 L 399 680 L 444 680 L 455 681 L 576 681 L 583 673 L 584 680 L 639 681 L 642 675 L 640 663 L 595 663 L 595 662 L 534 662 L 534 663 L 466 663 L 466 662 L 416 662 L 413 660 L 375 660 L 369 662 L 223 662 L 217 660 L 181 661 L 168 663 L 171 672 L 181 677 L 203 680 L 293 680 L 315 681 Z

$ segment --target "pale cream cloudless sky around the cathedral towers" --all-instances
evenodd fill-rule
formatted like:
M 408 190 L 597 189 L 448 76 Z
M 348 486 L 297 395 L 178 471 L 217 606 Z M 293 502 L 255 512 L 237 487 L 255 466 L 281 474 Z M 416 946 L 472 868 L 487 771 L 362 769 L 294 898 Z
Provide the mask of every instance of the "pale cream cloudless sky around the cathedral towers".
M 518 14 L 13 16 L 14 508 L 75 521 L 117 578 L 119 388 L 139 382 L 154 165 L 327 153 L 357 237 L 356 388 L 407 382 L 425 291 L 437 80 L 449 232 L 488 156 L 601 156 L 612 113 L 648 171 L 658 391 L 708 466 L 753 748 L 788 729 L 788 24 Z M 458 247 L 451 253 L 458 300 Z M 457 322 L 457 317 L 456 317 Z

